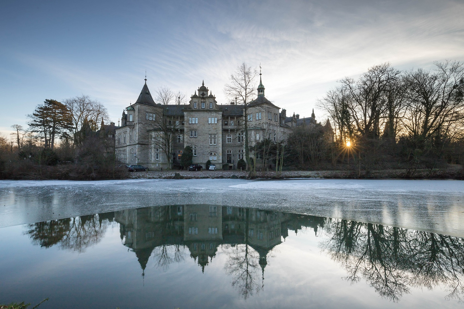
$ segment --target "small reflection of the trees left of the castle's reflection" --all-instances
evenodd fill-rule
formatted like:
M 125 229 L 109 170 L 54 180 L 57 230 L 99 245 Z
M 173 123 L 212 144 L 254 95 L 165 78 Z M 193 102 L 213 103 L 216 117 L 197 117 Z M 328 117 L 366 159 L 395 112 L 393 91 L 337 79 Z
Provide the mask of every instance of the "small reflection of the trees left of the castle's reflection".
M 102 239 L 108 223 L 108 220 L 99 220 L 98 214 L 90 214 L 30 224 L 26 233 L 41 247 L 58 245 L 62 249 L 84 252 Z

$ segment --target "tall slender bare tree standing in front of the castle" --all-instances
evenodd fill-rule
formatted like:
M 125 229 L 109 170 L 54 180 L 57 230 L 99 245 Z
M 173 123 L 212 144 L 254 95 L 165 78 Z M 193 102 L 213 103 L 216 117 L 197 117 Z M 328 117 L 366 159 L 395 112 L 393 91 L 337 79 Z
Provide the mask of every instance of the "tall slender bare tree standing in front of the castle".
M 224 86 L 224 92 L 228 97 L 237 98 L 238 104 L 243 104 L 244 108 L 244 131 L 245 131 L 245 158 L 247 169 L 250 170 L 250 141 L 248 136 L 248 104 L 256 95 L 256 77 L 258 71 L 252 69 L 245 62 L 240 64 L 235 72 L 231 74 L 230 83 Z M 251 171 L 251 170 L 250 170 Z

